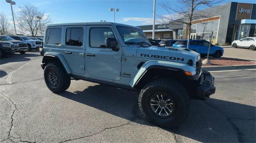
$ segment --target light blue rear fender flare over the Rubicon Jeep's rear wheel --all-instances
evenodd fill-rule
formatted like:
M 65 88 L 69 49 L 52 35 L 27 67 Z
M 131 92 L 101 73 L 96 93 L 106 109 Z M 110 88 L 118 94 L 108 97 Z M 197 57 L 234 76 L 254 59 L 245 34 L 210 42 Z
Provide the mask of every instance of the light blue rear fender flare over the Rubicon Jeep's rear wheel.
M 64 57 L 60 54 L 60 53 L 56 53 L 56 52 L 46 52 L 44 54 L 44 57 L 43 57 L 43 60 L 42 60 L 42 63 L 45 63 L 45 59 L 46 57 L 55 57 L 57 58 L 60 63 L 62 64 L 62 66 L 64 67 L 64 69 L 66 70 L 66 72 L 68 74 L 71 74 L 71 70 L 70 68 L 68 67 L 68 63 L 66 62 L 66 60 L 64 59 Z

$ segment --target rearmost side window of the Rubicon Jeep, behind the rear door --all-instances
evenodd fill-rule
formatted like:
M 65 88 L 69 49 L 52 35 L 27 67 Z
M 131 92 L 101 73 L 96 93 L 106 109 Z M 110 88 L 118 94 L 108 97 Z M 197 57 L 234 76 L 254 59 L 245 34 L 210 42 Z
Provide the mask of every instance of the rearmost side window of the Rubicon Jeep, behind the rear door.
M 46 44 L 60 45 L 61 28 L 48 28 L 45 39 Z

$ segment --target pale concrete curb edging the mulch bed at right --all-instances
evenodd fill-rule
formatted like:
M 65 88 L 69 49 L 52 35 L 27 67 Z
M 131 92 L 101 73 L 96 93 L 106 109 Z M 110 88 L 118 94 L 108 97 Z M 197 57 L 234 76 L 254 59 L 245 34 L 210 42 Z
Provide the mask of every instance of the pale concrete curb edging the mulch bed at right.
M 202 67 L 202 70 L 206 70 L 206 71 L 230 71 L 230 70 L 245 70 L 245 69 L 256 69 L 256 64 L 254 64 L 254 65 L 232 65 L 232 66 Z

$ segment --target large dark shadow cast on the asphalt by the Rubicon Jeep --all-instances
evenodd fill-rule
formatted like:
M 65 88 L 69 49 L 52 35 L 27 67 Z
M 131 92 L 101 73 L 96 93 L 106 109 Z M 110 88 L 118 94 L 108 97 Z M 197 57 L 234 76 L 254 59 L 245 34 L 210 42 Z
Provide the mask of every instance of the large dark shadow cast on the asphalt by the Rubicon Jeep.
M 66 91 L 58 95 L 86 104 L 87 106 L 91 106 L 109 114 L 128 119 L 132 122 L 152 125 L 144 119 L 134 119 L 131 117 L 132 114 L 140 114 L 137 92 L 130 92 L 104 85 L 95 85 L 89 86 L 83 91 L 76 91 L 75 93 Z M 256 141 L 256 107 L 217 99 L 208 99 L 206 101 L 209 101 L 209 103 L 192 100 L 190 114 L 185 123 L 178 129 L 165 130 L 180 135 L 181 137 L 188 137 L 200 142 L 235 142 L 237 140 L 240 142 Z M 136 113 L 133 113 L 133 108 L 136 108 Z M 226 114 L 226 112 L 228 113 Z M 230 115 L 233 115 L 234 117 L 229 117 Z M 234 133 L 234 131 L 236 132 L 236 123 L 233 123 L 232 119 L 246 118 L 249 115 L 250 117 L 254 117 L 254 120 L 246 126 L 241 127 L 250 133 L 249 137 L 247 137 L 246 133 L 243 131 Z M 240 126 L 237 125 L 237 127 Z M 230 131 L 230 128 L 232 131 Z

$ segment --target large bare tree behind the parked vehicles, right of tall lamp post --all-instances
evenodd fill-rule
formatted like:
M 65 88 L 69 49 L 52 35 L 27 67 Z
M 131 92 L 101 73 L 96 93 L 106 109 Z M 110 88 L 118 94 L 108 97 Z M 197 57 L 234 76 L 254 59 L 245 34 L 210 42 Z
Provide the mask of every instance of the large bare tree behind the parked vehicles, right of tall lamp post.
M 40 22 L 42 31 L 44 31 L 46 25 L 51 23 L 50 15 L 44 14 L 38 7 L 31 4 L 24 4 L 23 7 L 19 7 L 19 10 L 16 12 L 18 31 L 36 36 L 40 30 L 38 16 L 42 18 Z

